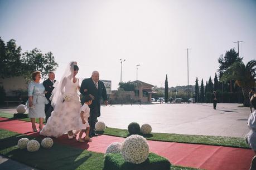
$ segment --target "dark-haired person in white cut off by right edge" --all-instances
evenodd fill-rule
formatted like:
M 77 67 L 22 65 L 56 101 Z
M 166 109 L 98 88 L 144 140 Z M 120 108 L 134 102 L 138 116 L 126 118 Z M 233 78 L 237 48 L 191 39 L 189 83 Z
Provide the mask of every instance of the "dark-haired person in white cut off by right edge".
M 256 94 L 254 94 L 250 98 L 250 103 L 252 104 L 254 109 L 256 109 Z M 247 125 L 249 126 L 250 131 L 247 134 L 245 141 L 248 143 L 249 147 L 252 148 L 255 152 L 255 156 L 252 159 L 252 164 L 249 169 L 253 170 L 256 169 L 256 110 L 254 110 L 254 112 L 250 114 Z

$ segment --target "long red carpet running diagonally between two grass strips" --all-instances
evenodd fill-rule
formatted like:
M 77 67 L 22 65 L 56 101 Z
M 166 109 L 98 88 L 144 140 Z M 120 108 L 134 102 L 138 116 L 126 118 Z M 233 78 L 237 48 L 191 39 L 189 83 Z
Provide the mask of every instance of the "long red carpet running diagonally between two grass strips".
M 17 133 L 39 136 L 39 133 L 31 132 L 31 123 L 11 120 L 0 117 L 0 128 Z M 38 127 L 38 126 L 37 126 Z M 75 139 L 67 139 L 67 135 L 54 138 L 54 142 L 69 146 L 87 149 L 88 151 L 105 153 L 112 142 L 123 142 L 124 138 L 101 135 L 92 138 L 89 143 L 80 143 Z M 202 168 L 242 170 L 249 169 L 254 152 L 250 149 L 208 146 L 204 144 L 185 144 L 175 142 L 148 141 L 151 152 L 166 157 L 172 164 Z

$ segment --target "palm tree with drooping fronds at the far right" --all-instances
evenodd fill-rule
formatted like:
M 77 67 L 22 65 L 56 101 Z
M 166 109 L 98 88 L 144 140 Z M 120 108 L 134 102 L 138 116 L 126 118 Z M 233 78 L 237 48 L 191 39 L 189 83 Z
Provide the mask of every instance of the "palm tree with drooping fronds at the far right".
M 223 74 L 220 81 L 227 82 L 235 80 L 235 83 L 242 88 L 244 95 L 244 106 L 249 107 L 248 98 L 250 88 L 255 86 L 256 80 L 256 60 L 249 61 L 246 66 L 242 61 L 234 62 Z

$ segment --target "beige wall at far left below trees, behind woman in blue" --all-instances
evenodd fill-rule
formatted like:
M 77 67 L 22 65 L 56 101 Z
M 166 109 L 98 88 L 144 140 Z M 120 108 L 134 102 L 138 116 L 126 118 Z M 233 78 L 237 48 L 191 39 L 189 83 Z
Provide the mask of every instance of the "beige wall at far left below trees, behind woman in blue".
M 14 96 L 14 94 L 12 93 L 13 90 L 27 89 L 27 83 L 22 76 L 4 79 L 0 78 L 0 85 L 3 86 L 3 88 L 5 89 L 6 96 Z

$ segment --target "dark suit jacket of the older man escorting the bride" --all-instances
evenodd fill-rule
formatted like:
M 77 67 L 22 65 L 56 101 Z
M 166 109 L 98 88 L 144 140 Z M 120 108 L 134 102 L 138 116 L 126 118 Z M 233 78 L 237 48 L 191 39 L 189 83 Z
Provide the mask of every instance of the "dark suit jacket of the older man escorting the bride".
M 84 92 L 84 89 L 87 89 L 88 91 Z M 86 78 L 82 81 L 81 87 L 80 87 L 80 93 L 85 95 L 93 95 L 94 100 L 89 106 L 91 109 L 98 107 L 99 109 L 99 116 L 100 116 L 100 99 L 103 98 L 104 101 L 108 100 L 107 97 L 107 91 L 104 86 L 104 83 L 102 81 L 98 81 L 98 89 L 95 87 L 95 84 L 93 82 L 92 78 Z M 81 98 L 81 103 L 84 104 L 83 97 Z

